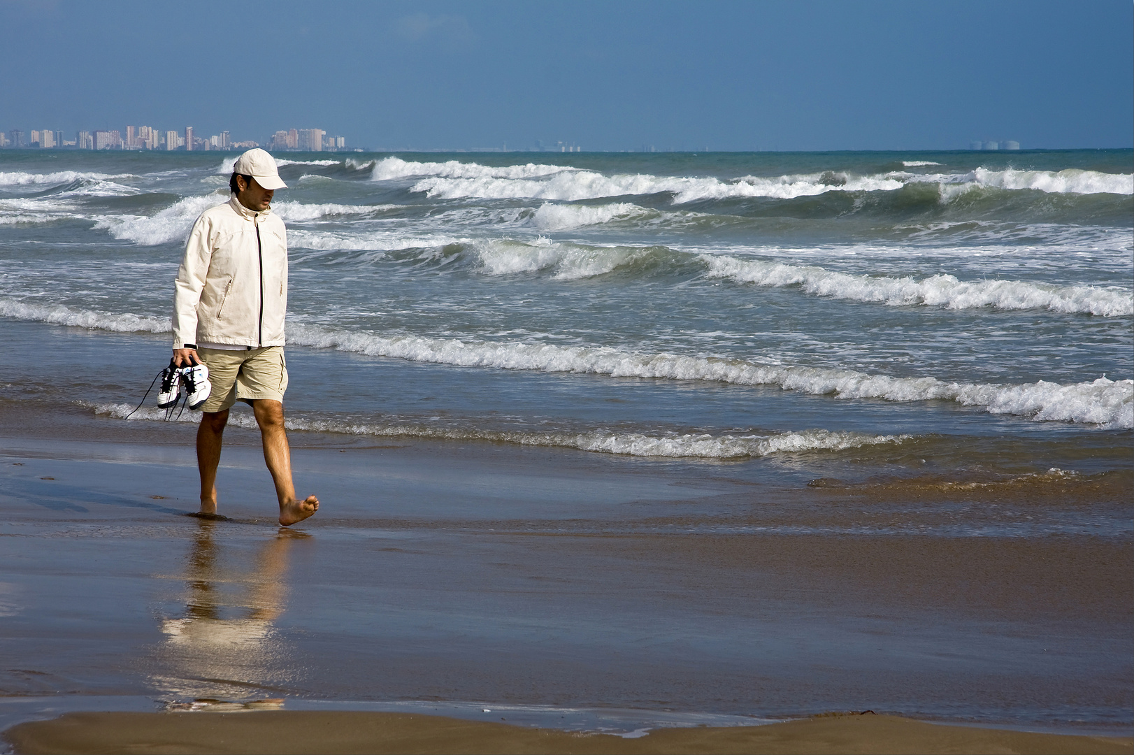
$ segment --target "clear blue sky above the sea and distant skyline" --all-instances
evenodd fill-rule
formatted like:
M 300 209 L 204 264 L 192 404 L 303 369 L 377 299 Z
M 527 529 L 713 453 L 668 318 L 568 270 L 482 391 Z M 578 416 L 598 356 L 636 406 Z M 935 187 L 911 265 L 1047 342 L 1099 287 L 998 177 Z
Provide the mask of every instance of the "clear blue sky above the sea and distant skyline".
M 0 129 L 584 150 L 1134 146 L 1134 3 L 0 0 Z

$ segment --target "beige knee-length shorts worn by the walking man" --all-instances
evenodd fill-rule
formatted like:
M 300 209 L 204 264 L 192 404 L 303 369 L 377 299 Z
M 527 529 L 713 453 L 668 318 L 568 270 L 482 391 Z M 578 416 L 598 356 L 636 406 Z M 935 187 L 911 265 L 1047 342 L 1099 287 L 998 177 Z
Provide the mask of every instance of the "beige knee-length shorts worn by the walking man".
M 284 401 L 287 360 L 284 358 L 282 346 L 264 346 L 243 351 L 197 349 L 197 355 L 209 367 L 209 382 L 213 387 L 209 400 L 201 407 L 202 412 L 230 409 L 237 399 Z

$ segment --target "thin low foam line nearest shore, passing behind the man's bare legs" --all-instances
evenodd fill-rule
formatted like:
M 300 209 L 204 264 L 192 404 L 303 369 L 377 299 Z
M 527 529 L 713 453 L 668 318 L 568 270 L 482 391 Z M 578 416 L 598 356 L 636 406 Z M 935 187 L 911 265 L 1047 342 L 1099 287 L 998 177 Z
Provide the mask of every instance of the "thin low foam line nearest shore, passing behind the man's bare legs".
M 163 421 L 164 409 L 144 407 L 134 412 L 127 404 L 83 404 L 95 414 L 125 419 Z M 133 413 L 133 414 L 132 414 Z M 180 422 L 196 422 L 200 415 L 184 412 L 174 415 Z M 230 416 L 229 422 L 242 427 L 256 427 L 254 417 L 240 413 Z M 349 422 L 342 419 L 313 419 L 289 417 L 285 421 L 288 430 L 346 433 L 350 435 L 375 435 L 381 438 L 425 438 L 430 440 L 486 441 L 514 443 L 517 446 L 543 446 L 574 448 L 599 453 L 661 458 L 742 459 L 772 453 L 802 453 L 807 451 L 840 451 L 863 446 L 900 443 L 909 435 L 870 435 L 856 432 L 833 432 L 830 430 L 804 430 L 772 435 L 711 435 L 709 433 L 617 433 L 604 430 L 589 432 L 533 433 L 523 431 L 472 430 L 463 427 L 435 427 L 422 424 L 390 424 Z

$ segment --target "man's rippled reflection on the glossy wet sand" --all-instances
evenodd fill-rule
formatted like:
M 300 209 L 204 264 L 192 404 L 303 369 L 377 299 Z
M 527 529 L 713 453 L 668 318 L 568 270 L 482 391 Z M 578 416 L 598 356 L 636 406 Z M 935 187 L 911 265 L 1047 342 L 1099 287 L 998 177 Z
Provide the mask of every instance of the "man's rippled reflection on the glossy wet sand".
M 184 616 L 161 621 L 151 680 L 177 698 L 247 698 L 280 689 L 293 673 L 273 622 L 287 604 L 288 552 L 311 535 L 281 528 L 242 569 L 236 549 L 218 542 L 219 524 L 194 523 Z

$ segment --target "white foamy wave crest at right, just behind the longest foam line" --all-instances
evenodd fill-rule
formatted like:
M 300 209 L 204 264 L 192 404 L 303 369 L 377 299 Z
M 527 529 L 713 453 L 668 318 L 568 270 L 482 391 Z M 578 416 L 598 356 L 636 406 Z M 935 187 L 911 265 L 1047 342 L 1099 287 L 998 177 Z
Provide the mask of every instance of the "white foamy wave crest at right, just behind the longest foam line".
M 938 274 L 875 278 L 832 272 L 818 266 L 701 255 L 709 277 L 758 286 L 801 286 L 807 294 L 889 305 L 936 305 L 950 309 L 993 306 L 1000 309 L 1050 309 L 1116 317 L 1134 314 L 1134 292 L 1094 286 L 1046 286 L 1014 280 L 962 281 Z

